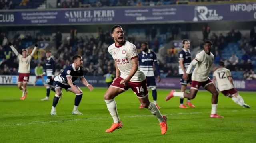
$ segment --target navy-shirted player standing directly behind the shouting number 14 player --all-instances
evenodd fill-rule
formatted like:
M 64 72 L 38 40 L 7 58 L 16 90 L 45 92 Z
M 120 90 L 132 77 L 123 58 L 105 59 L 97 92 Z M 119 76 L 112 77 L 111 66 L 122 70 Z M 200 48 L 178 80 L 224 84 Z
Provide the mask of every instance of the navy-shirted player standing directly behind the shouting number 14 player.
M 138 56 L 139 67 L 140 69 L 142 69 L 142 71 L 146 75 L 148 88 L 151 88 L 154 104 L 156 104 L 157 92 L 156 92 L 156 79 L 154 75 L 153 65 L 155 65 L 155 69 L 157 73 L 157 81 L 160 82 L 161 80 L 156 53 L 148 49 L 148 43 L 142 43 L 141 48 L 142 48 L 142 52 L 140 52 Z M 156 107 L 160 109 L 160 107 L 157 104 L 156 104 Z M 143 108 L 142 105 L 140 105 L 140 109 L 141 108 Z

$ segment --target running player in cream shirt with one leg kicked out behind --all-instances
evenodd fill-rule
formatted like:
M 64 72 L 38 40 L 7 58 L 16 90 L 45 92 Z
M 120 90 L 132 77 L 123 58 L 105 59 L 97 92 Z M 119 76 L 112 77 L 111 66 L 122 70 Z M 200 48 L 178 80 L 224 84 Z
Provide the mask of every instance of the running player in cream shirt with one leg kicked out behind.
M 194 99 L 198 92 L 198 88 L 202 86 L 210 93 L 212 93 L 212 112 L 210 114 L 210 118 L 223 118 L 223 116 L 219 116 L 216 113 L 219 94 L 214 84 L 212 84 L 212 80 L 210 80 L 210 78 L 208 77 L 210 68 L 214 61 L 214 55 L 211 53 L 211 49 L 212 42 L 205 41 L 204 50 L 196 54 L 195 59 L 188 66 L 186 73 L 183 74 L 183 79 L 187 80 L 188 74 L 191 71 L 192 67 L 196 66 L 192 74 L 190 93 L 175 92 L 175 90 L 172 90 L 172 92 L 170 92 L 170 94 L 167 95 L 166 98 L 170 99 L 174 96 L 178 96 L 182 98 Z

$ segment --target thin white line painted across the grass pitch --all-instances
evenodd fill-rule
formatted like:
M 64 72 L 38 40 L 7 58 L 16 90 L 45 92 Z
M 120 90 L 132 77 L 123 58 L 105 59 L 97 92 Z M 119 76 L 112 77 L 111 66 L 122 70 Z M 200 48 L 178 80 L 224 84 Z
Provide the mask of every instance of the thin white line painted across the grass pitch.
M 247 110 L 242 110 L 243 112 Z M 251 110 L 256 111 L 256 110 Z M 230 112 L 240 112 L 239 110 L 232 110 Z M 184 115 L 184 114 L 201 114 L 201 113 L 209 113 L 209 112 L 180 112 L 180 113 L 173 113 L 173 114 L 164 114 L 164 115 Z M 133 115 L 133 116 L 124 116 L 121 118 L 131 118 L 131 117 L 151 117 L 153 115 Z M 65 121 L 82 121 L 82 120 L 91 120 L 91 119 L 109 119 L 112 117 L 100 117 L 100 118 L 83 118 L 83 119 L 68 119 L 68 120 L 59 120 L 59 121 L 43 121 L 43 122 L 32 122 L 32 123 L 17 123 L 17 124 L 8 124 L 8 125 L 0 125 L 0 127 L 5 126 L 16 126 L 16 125 L 31 125 L 31 124 L 41 124 L 41 123 L 58 123 L 58 122 L 65 122 Z

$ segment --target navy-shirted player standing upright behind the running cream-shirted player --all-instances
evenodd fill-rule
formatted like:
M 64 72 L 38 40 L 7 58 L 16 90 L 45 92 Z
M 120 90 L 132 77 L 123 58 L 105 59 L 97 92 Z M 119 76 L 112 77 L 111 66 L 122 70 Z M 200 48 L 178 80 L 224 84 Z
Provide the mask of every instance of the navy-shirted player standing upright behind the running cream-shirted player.
M 190 47 L 190 41 L 188 41 L 187 39 L 184 39 L 182 41 L 182 50 L 179 53 L 179 74 L 180 74 L 180 84 L 181 84 L 181 92 L 185 92 L 186 88 L 187 88 L 187 84 L 189 83 L 191 85 L 192 82 L 192 70 L 190 71 L 190 73 L 188 74 L 188 81 L 183 79 L 183 74 L 186 73 L 186 70 L 189 66 L 189 64 L 191 63 L 191 53 L 189 50 Z M 185 106 L 183 104 L 183 100 L 184 98 L 180 97 L 180 108 L 188 108 L 187 106 Z M 192 103 L 190 102 L 190 99 L 188 99 L 186 101 L 186 105 L 190 106 L 191 108 L 195 108 L 194 105 L 192 105 Z

